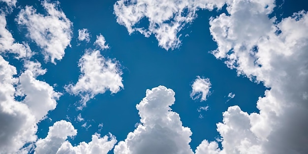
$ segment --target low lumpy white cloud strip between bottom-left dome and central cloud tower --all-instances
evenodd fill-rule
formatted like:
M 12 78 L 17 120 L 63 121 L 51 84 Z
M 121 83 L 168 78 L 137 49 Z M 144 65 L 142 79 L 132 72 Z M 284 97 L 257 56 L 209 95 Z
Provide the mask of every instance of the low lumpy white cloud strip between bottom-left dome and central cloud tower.
M 117 143 L 116 137 L 112 134 L 100 137 L 99 134 L 92 135 L 89 143 L 81 142 L 73 147 L 65 141 L 56 154 L 107 154 Z

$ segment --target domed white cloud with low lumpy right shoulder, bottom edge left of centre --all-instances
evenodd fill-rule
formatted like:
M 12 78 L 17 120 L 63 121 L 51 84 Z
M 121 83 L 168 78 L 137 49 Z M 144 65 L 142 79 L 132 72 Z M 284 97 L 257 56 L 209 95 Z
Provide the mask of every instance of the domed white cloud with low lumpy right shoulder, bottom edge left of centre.
M 59 121 L 49 127 L 48 135 L 39 139 L 35 145 L 34 154 L 107 154 L 116 144 L 117 140 L 112 134 L 100 137 L 92 135 L 89 143 L 81 142 L 73 147 L 67 137 L 77 135 L 77 130 L 70 122 Z

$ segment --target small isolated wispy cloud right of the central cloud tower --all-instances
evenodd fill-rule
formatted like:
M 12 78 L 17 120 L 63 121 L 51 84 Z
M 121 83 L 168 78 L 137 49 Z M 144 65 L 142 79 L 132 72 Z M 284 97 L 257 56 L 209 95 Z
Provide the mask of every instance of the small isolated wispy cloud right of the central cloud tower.
M 191 85 L 192 92 L 190 93 L 190 97 L 195 100 L 199 99 L 201 101 L 206 101 L 207 96 L 211 93 L 211 82 L 210 79 L 201 78 L 197 76 L 197 79 L 194 80 L 193 84 Z

